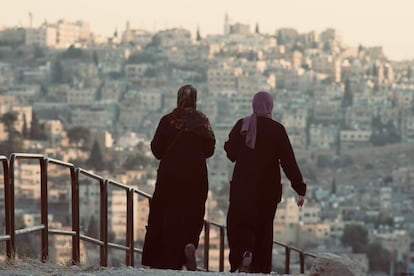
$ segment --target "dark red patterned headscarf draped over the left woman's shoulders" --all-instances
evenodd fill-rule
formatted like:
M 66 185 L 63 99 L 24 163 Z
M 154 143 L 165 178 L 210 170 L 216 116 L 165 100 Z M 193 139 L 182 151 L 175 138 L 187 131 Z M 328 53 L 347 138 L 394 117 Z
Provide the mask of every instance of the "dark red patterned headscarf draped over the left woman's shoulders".
M 170 123 L 179 130 L 214 139 L 207 117 L 196 110 L 197 90 L 192 85 L 180 87 L 177 93 L 177 108 L 168 115 Z

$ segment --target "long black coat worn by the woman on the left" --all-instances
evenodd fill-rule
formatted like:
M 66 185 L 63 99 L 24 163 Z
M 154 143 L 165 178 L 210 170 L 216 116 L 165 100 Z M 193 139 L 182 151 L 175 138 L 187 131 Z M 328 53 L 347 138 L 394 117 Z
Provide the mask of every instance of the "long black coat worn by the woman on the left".
M 196 247 L 204 223 L 208 193 L 206 158 L 214 153 L 215 139 L 179 131 L 164 116 L 151 149 L 160 160 L 150 204 L 142 264 L 181 269 L 184 247 Z

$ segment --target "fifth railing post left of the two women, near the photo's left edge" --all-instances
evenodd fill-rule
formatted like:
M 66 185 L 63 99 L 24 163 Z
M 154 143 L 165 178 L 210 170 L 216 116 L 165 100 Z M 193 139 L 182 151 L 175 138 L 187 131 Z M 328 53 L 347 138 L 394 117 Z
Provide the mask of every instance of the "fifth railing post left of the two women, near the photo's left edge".
M 9 185 L 9 231 L 10 231 L 10 242 L 7 243 L 7 256 L 10 259 L 16 258 L 16 225 L 15 225 L 15 209 L 14 209 L 14 162 L 16 161 L 16 155 L 12 154 L 10 156 L 10 185 Z

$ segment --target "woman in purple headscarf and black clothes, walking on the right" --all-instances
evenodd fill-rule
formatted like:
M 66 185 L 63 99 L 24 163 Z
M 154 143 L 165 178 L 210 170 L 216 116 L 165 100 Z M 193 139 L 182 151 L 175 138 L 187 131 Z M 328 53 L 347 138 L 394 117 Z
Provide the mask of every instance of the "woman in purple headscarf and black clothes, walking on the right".
M 302 206 L 306 184 L 284 126 L 272 119 L 268 92 L 253 97 L 253 114 L 240 119 L 224 144 L 235 162 L 230 181 L 227 237 L 230 271 L 270 273 L 273 220 L 282 197 L 280 167 Z

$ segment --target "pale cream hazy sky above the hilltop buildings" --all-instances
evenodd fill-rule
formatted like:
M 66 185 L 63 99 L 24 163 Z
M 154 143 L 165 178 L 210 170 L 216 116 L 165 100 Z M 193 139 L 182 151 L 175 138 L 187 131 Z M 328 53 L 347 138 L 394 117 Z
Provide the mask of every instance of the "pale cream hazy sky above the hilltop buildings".
M 414 0 L 2 0 L 0 25 L 45 19 L 84 20 L 93 32 L 109 35 L 132 28 L 155 31 L 183 27 L 193 34 L 222 34 L 224 15 L 259 24 L 262 33 L 293 27 L 299 32 L 335 28 L 350 46 L 383 46 L 391 59 L 414 59 Z

